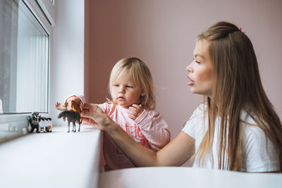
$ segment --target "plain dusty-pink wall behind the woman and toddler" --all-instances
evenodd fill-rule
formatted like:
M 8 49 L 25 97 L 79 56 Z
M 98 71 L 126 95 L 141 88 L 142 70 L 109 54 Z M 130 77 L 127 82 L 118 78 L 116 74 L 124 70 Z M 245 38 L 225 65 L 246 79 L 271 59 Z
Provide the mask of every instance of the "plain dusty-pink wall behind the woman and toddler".
M 88 6 L 86 1 L 88 1 Z M 282 118 L 282 1 L 85 1 L 85 96 L 102 103 L 109 73 L 121 58 L 137 56 L 152 71 L 157 110 L 172 138 L 180 132 L 202 96 L 191 94 L 186 66 L 197 35 L 220 20 L 235 23 L 250 37 L 264 89 Z M 85 10 L 85 12 L 87 12 Z M 89 27 L 86 25 L 88 24 Z M 88 49 L 85 49 L 85 51 Z

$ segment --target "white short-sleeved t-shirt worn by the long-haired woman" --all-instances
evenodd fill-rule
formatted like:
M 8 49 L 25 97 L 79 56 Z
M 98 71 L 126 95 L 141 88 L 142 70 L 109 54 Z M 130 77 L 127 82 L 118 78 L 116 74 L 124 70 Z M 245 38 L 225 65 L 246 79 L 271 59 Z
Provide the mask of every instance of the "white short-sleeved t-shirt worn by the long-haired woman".
M 245 148 L 243 148 L 243 161 L 241 171 L 245 172 L 270 172 L 280 170 L 278 153 L 273 144 L 266 137 L 264 132 L 256 125 L 255 121 L 247 113 L 243 113 L 243 134 Z M 250 124 L 250 125 L 249 125 Z M 211 152 L 208 154 L 204 165 L 200 165 L 195 158 L 193 168 L 214 168 L 219 169 L 219 126 L 220 118 L 216 118 L 214 143 Z M 195 139 L 195 152 L 199 149 L 205 132 L 208 127 L 207 105 L 200 104 L 185 124 L 183 132 Z M 267 146 L 266 146 L 267 144 Z

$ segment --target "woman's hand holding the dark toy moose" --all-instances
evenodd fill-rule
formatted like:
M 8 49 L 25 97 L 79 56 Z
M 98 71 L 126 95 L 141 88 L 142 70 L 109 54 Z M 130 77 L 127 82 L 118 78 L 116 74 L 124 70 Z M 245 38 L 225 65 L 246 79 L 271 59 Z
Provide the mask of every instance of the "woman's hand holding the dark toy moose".
M 98 130 L 108 130 L 109 125 L 114 123 L 97 104 L 84 104 L 81 112 L 82 123 L 92 125 Z

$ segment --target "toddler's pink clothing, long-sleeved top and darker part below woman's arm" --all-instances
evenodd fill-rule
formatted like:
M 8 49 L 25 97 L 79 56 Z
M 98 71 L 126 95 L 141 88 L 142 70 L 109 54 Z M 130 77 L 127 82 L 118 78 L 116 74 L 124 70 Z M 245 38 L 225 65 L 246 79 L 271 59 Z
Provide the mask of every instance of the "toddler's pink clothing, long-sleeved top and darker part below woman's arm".
M 156 111 L 144 110 L 135 120 L 132 120 L 128 117 L 128 108 L 108 103 L 98 104 L 98 106 L 142 146 L 158 151 L 171 139 L 168 125 Z M 102 153 L 104 157 L 102 161 L 106 163 L 105 170 L 135 167 L 106 133 L 103 134 Z

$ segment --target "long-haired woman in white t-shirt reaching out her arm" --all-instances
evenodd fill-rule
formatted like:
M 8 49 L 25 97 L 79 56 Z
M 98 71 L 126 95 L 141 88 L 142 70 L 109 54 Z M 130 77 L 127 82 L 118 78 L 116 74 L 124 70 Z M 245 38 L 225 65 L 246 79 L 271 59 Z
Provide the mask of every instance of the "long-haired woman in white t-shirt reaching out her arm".
M 259 77 L 252 42 L 231 23 L 198 36 L 188 65 L 191 92 L 205 101 L 183 130 L 158 152 L 137 144 L 95 104 L 85 104 L 86 123 L 103 130 L 137 166 L 182 165 L 243 172 L 281 172 L 282 126 Z

